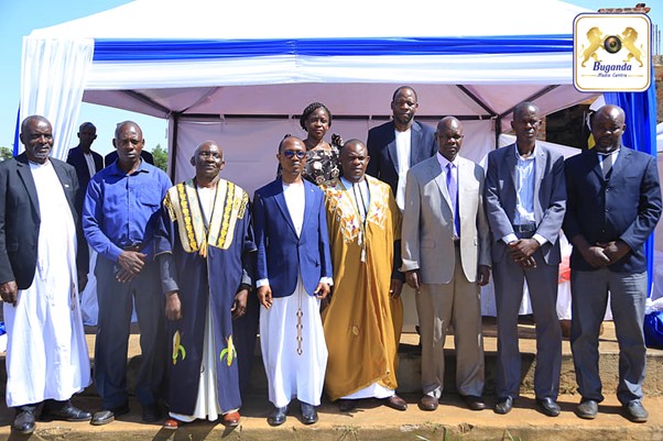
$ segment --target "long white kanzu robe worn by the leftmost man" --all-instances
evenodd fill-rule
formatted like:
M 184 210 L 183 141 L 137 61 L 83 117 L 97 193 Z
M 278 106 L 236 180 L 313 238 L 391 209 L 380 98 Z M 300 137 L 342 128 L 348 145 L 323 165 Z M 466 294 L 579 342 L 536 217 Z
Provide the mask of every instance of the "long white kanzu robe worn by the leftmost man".
M 66 400 L 90 384 L 76 275 L 76 228 L 51 162 L 30 164 L 40 207 L 37 264 L 17 306 L 4 304 L 7 406 Z

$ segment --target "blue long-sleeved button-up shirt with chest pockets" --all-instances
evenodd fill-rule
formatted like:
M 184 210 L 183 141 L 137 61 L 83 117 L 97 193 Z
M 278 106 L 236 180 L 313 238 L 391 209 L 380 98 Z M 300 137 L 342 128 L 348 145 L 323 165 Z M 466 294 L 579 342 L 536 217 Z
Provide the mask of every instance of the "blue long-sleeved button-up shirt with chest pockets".
M 160 168 L 141 161 L 127 175 L 113 162 L 89 181 L 83 207 L 83 230 L 89 245 L 111 262 L 134 246 L 152 254 L 159 211 L 171 179 Z

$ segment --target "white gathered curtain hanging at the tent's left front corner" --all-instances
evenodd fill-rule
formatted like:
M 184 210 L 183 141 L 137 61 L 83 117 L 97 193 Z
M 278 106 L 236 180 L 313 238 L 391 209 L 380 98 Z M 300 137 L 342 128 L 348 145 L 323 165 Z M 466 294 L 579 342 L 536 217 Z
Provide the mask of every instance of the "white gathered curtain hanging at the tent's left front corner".
M 52 157 L 67 157 L 94 53 L 93 38 L 23 38 L 20 120 L 41 114 L 51 121 Z

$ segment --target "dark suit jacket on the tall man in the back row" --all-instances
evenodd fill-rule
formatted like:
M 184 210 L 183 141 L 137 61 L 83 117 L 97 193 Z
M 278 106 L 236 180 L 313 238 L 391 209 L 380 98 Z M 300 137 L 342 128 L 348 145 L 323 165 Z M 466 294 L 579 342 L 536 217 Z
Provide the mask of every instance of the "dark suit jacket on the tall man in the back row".
M 393 121 L 368 131 L 366 142 L 371 161 L 366 173 L 391 187 L 395 196 L 399 184 L 399 163 Z M 414 121 L 410 141 L 410 167 L 430 158 L 437 152 L 435 131 L 426 124 Z

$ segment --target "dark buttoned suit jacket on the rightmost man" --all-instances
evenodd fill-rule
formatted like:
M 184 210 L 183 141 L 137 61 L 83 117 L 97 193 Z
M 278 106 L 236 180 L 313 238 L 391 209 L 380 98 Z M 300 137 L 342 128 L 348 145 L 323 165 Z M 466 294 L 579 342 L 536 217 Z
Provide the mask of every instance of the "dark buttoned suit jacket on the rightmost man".
M 590 150 L 566 159 L 568 200 L 564 233 L 590 244 L 621 239 L 631 251 L 608 268 L 618 273 L 646 271 L 643 243 L 661 217 L 661 187 L 655 156 L 621 147 L 608 178 Z M 596 269 L 573 250 L 570 267 Z

